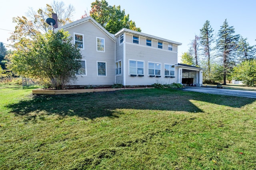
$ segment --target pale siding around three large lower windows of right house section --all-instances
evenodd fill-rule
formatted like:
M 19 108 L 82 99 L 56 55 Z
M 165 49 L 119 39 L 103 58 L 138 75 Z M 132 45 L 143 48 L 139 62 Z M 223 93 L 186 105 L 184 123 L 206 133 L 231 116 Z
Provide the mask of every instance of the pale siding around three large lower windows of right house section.
M 154 42 L 154 41 L 153 41 Z M 177 82 L 177 68 L 175 69 L 175 78 L 164 77 L 164 64 L 176 64 L 177 53 L 173 51 L 146 47 L 126 41 L 126 85 L 151 85 L 154 83 L 171 84 Z M 129 75 L 129 60 L 144 61 L 144 76 L 132 77 Z M 148 62 L 161 63 L 161 77 L 148 76 Z

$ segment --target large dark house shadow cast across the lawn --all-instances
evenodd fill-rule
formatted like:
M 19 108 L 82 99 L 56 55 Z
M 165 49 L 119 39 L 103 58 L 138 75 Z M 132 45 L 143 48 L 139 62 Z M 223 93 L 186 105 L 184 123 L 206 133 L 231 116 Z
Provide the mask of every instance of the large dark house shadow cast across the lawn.
M 114 109 L 148 109 L 163 111 L 203 112 L 190 100 L 217 105 L 242 107 L 254 102 L 233 96 L 221 98 L 218 95 L 183 92 L 172 89 L 122 90 L 58 96 L 34 96 L 31 100 L 7 106 L 16 115 L 30 116 L 37 113 L 60 116 L 79 116 L 84 119 L 97 117 L 118 118 Z

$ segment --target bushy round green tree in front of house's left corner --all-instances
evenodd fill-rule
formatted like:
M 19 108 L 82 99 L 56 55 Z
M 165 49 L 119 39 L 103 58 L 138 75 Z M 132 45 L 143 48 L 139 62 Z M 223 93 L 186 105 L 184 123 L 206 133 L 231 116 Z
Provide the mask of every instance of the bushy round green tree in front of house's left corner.
M 22 41 L 10 57 L 8 67 L 18 75 L 39 78 L 56 89 L 76 79 L 82 59 L 68 32 L 38 33 L 35 39 Z

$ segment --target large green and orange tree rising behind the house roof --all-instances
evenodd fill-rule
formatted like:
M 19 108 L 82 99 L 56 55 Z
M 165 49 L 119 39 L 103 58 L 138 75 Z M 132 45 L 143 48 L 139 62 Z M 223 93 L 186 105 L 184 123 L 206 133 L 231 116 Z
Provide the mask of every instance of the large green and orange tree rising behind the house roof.
M 129 14 L 125 14 L 119 6 L 108 6 L 106 0 L 96 0 L 91 4 L 90 16 L 94 18 L 100 25 L 102 25 L 110 33 L 117 33 L 122 28 L 132 29 L 141 32 L 139 27 L 136 27 L 134 21 L 130 20 Z M 82 18 L 84 18 L 82 16 Z

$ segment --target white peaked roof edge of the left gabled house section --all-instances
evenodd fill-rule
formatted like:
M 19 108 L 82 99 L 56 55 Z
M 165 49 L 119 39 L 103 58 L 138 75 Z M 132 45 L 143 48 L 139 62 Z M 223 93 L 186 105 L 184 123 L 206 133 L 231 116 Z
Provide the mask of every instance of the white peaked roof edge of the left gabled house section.
M 54 31 L 58 31 L 58 30 L 60 30 L 60 29 L 64 29 L 64 30 L 65 30 L 65 29 L 74 27 L 74 26 L 76 26 L 76 25 L 79 25 L 79 24 L 81 24 L 81 23 L 85 23 L 85 22 L 87 22 L 87 21 L 92 21 L 92 23 L 94 23 L 94 25 L 95 25 L 96 27 L 98 27 L 102 32 L 104 32 L 108 37 L 110 37 L 110 39 L 112 39 L 113 41 L 116 41 L 115 35 L 112 34 L 112 33 L 110 33 L 110 32 L 108 32 L 104 27 L 102 27 L 102 26 L 101 26 L 97 21 L 95 21 L 91 16 L 88 16 L 88 17 L 86 17 L 86 18 L 82 18 L 82 19 L 80 19 L 80 20 L 77 20 L 77 21 L 74 21 L 74 22 L 72 22 L 72 23 L 68 23 L 68 24 L 63 25 L 63 26 L 61 26 L 61 27 L 58 27 L 58 28 L 54 29 Z

